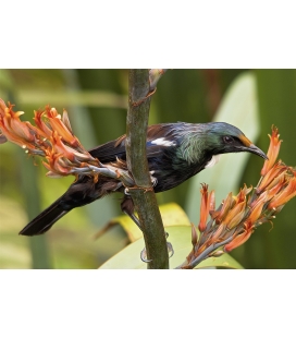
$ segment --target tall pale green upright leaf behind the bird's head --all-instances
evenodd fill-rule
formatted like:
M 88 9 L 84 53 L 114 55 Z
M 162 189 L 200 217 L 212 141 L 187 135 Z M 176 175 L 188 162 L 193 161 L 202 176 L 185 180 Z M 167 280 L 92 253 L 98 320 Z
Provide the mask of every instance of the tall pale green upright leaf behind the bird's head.
M 251 72 L 239 75 L 226 92 L 215 113 L 214 121 L 227 122 L 239 128 L 251 142 L 259 136 L 256 79 Z M 220 161 L 192 179 L 186 203 L 186 214 L 196 224 L 199 215 L 200 183 L 214 190 L 217 204 L 220 205 L 227 193 L 238 189 L 242 172 L 250 155 L 248 153 L 224 154 Z M 197 212 L 198 210 L 198 212 Z

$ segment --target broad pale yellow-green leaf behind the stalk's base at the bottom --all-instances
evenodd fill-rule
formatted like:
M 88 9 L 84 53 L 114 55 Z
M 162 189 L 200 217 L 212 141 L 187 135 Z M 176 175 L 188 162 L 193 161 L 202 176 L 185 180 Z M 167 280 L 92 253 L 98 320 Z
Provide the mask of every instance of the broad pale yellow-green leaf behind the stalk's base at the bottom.
M 169 233 L 168 241 L 170 241 L 174 248 L 174 255 L 170 258 L 170 268 L 175 268 L 185 261 L 186 256 L 192 251 L 192 229 L 188 226 L 170 226 L 165 227 L 165 231 Z M 144 246 L 144 239 L 140 238 L 115 254 L 99 268 L 146 269 L 146 263 L 140 259 L 140 252 Z M 197 266 L 197 268 L 201 267 L 243 268 L 240 264 L 227 254 L 205 259 Z

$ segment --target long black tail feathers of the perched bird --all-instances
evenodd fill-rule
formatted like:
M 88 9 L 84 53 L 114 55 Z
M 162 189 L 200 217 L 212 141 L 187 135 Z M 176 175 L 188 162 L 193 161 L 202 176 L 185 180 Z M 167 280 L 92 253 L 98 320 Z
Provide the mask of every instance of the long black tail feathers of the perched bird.
M 62 197 L 58 198 L 41 214 L 35 217 L 23 230 L 20 231 L 18 234 L 35 236 L 48 231 L 58 219 L 60 219 L 71 210 L 65 210 L 61 206 L 61 198 Z

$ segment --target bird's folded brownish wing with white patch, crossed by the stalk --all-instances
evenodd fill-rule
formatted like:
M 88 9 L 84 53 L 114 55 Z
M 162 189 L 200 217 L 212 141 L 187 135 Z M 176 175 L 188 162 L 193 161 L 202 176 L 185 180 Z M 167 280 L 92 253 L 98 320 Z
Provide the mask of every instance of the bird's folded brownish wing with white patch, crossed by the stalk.
M 148 126 L 147 158 L 160 156 L 165 148 L 176 145 L 173 135 L 174 129 L 177 128 L 176 124 L 180 123 L 161 123 Z M 126 135 L 122 135 L 118 140 L 99 145 L 88 152 L 102 164 L 115 161 L 116 157 L 125 160 L 125 140 Z

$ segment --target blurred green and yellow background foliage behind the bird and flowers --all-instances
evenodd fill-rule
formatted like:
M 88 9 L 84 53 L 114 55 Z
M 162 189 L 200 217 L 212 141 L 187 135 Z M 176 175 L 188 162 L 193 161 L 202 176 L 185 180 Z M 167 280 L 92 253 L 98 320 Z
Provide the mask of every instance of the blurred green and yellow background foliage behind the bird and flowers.
M 251 141 L 267 152 L 267 135 L 275 124 L 284 140 L 280 157 L 295 166 L 296 70 L 170 70 L 152 97 L 149 123 L 211 121 L 230 86 L 244 74 L 255 79 L 258 125 L 254 128 L 259 128 L 259 134 Z M 47 104 L 60 112 L 66 109 L 76 136 L 91 148 L 125 133 L 127 80 L 128 70 L 0 70 L 0 97 L 15 104 L 15 111 L 25 111 L 22 119 L 30 122 L 33 111 Z M 233 166 L 230 162 L 230 177 Z M 219 164 L 215 167 L 219 170 Z M 234 193 L 243 183 L 256 185 L 261 167 L 260 158 L 248 157 Z M 49 179 L 45 173 L 38 158 L 27 157 L 14 144 L 0 145 L 0 268 L 97 268 L 128 244 L 121 227 L 95 240 L 111 218 L 121 215 L 115 194 L 72 210 L 44 236 L 18 236 L 73 181 Z M 199 201 L 199 189 L 192 180 L 158 194 L 159 204 L 175 202 L 188 212 L 190 196 Z M 227 176 L 221 180 L 226 184 Z M 199 205 L 192 219 L 195 224 L 198 210 Z M 295 220 L 296 198 L 279 214 L 273 227 L 262 225 L 231 255 L 245 268 L 296 268 Z

